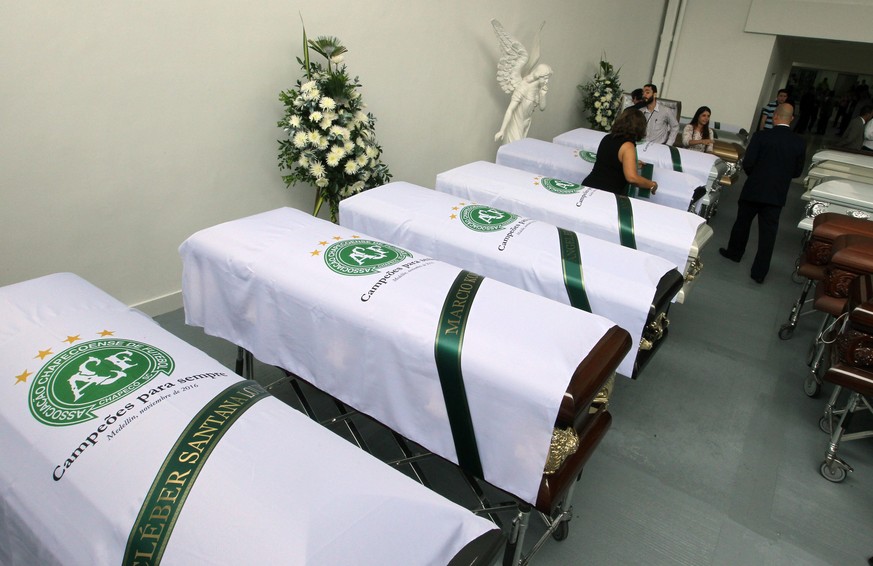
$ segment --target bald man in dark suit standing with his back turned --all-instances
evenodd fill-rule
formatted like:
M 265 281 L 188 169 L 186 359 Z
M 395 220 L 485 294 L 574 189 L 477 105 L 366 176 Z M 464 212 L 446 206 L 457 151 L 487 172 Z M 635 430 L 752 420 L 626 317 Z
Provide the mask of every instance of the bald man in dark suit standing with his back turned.
M 721 255 L 739 262 L 746 251 L 752 220 L 758 217 L 758 253 L 752 263 L 751 276 L 763 283 L 770 270 L 770 258 L 776 244 L 779 215 L 788 197 L 791 179 L 803 172 L 806 145 L 803 138 L 788 127 L 794 114 L 790 104 L 780 104 L 773 112 L 773 128 L 752 135 L 743 171 L 748 176 L 740 193 L 739 209 L 727 248 Z

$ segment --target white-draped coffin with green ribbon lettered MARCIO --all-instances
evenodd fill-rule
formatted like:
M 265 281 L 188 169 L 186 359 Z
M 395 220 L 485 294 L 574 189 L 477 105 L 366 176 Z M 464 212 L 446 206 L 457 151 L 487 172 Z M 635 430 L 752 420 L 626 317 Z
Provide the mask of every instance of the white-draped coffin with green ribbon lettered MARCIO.
M 529 503 L 571 378 L 597 362 L 602 383 L 630 347 L 605 318 L 290 208 L 180 253 L 189 324 Z

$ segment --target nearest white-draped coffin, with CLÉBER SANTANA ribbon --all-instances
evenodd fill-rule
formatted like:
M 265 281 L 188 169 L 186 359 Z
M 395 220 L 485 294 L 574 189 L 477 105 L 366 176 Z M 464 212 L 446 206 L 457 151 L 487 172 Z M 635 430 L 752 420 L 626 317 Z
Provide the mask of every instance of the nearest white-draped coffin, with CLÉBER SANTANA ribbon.
M 500 544 L 78 276 L 0 288 L 0 320 L 2 564 L 445 564 Z

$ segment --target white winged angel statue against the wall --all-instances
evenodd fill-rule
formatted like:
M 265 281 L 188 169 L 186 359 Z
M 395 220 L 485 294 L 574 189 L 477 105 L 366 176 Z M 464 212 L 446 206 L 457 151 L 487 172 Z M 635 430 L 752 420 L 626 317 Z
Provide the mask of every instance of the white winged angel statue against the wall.
M 519 41 L 514 39 L 497 20 L 491 20 L 494 33 L 500 43 L 502 55 L 497 63 L 497 83 L 503 92 L 511 94 L 509 106 L 503 115 L 500 131 L 494 136 L 494 141 L 510 143 L 527 136 L 534 110 L 546 109 L 546 93 L 549 91 L 549 78 L 552 68 L 543 63 L 537 64 L 540 58 L 540 33 L 531 54 Z M 540 26 L 542 31 L 546 22 Z M 529 69 L 525 71 L 525 68 Z

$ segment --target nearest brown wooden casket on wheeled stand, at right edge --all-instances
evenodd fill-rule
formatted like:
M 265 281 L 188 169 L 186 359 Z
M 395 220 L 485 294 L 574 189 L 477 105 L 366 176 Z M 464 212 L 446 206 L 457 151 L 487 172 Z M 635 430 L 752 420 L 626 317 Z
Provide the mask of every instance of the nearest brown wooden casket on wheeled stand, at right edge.
M 820 421 L 822 430 L 831 435 L 820 471 L 832 482 L 843 481 L 846 472 L 853 471 L 837 456 L 840 444 L 873 436 L 870 429 L 847 432 L 851 423 L 857 422 L 856 412 L 873 412 L 873 276 L 862 275 L 852 282 L 846 313 L 846 323 L 835 340 L 836 363 L 824 375 L 835 389 Z M 843 396 L 843 390 L 848 395 Z

